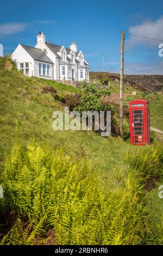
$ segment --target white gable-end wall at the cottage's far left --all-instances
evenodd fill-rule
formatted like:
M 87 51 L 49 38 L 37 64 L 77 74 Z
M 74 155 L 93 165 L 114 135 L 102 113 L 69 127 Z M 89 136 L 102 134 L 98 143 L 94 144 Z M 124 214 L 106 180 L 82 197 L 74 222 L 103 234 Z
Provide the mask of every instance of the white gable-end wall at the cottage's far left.
M 29 63 L 29 74 L 27 76 L 34 76 L 34 60 L 33 58 L 24 50 L 21 45 L 18 45 L 15 51 L 11 55 L 12 59 L 16 60 L 17 68 L 20 70 L 20 63 Z

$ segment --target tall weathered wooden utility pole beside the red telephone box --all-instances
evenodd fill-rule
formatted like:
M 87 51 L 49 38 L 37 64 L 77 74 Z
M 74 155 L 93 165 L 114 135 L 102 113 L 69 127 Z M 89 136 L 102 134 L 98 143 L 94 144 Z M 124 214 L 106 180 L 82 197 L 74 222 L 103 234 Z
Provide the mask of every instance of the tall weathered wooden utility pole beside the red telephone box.
M 121 76 L 120 76 L 120 135 L 123 137 L 123 72 L 124 72 L 124 31 L 121 39 Z

